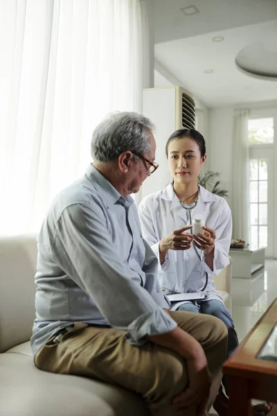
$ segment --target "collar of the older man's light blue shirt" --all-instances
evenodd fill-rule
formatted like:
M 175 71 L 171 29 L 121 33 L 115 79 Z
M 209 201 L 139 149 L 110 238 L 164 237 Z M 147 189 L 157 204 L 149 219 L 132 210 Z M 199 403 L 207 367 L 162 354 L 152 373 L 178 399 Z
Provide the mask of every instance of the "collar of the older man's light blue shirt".
M 107 207 L 120 202 L 120 204 L 129 207 L 134 203 L 132 196 L 122 196 L 112 184 L 100 173 L 93 164 L 89 164 L 87 171 L 85 173 L 89 182 L 93 184 L 93 187 L 96 188 L 96 191 L 100 194 L 102 200 L 107 204 Z

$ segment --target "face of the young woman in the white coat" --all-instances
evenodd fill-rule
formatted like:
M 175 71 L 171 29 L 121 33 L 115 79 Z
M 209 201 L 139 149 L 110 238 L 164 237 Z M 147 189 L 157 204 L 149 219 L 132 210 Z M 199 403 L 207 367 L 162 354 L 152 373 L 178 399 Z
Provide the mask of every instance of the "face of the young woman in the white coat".
M 168 166 L 175 182 L 197 181 L 205 160 L 206 155 L 201 157 L 197 142 L 190 137 L 172 140 L 168 145 Z

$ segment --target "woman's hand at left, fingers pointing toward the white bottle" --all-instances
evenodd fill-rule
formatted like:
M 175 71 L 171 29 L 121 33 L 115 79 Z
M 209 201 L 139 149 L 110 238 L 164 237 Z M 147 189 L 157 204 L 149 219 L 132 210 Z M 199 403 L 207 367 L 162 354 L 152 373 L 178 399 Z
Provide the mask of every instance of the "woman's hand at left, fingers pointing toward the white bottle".
M 188 250 L 193 240 L 192 234 L 186 232 L 192 225 L 175 229 L 159 242 L 160 260 L 163 261 L 168 250 Z

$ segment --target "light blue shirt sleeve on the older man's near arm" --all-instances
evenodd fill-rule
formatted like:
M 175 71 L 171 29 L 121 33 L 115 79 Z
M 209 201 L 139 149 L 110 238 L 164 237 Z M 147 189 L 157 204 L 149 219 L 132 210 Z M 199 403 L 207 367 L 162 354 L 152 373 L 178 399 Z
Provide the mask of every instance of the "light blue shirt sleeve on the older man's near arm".
M 127 331 L 130 343 L 140 345 L 147 341 L 145 336 L 167 333 L 177 326 L 156 302 L 156 295 L 152 297 L 132 279 L 136 272 L 120 260 L 100 206 L 80 203 L 64 209 L 52 254 L 111 327 Z M 154 288 L 152 291 L 155 293 Z

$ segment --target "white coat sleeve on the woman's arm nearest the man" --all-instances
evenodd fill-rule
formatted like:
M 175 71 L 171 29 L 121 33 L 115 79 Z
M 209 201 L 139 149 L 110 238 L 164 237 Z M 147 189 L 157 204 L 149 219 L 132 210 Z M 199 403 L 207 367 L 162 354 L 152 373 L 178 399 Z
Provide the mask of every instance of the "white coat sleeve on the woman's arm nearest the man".
M 159 252 L 159 239 L 154 228 L 154 219 L 147 199 L 143 199 L 139 205 L 139 220 L 141 221 L 141 231 L 143 239 L 150 245 L 155 256 L 159 261 L 159 272 L 167 271 L 169 268 L 168 252 L 166 253 L 165 262 L 161 265 Z

